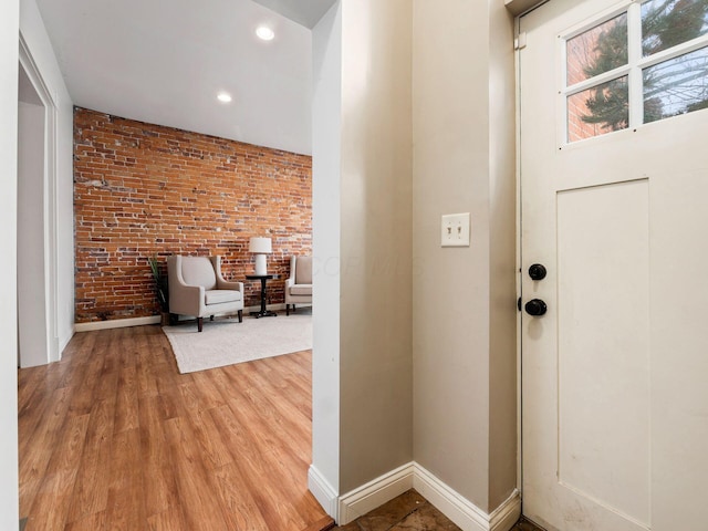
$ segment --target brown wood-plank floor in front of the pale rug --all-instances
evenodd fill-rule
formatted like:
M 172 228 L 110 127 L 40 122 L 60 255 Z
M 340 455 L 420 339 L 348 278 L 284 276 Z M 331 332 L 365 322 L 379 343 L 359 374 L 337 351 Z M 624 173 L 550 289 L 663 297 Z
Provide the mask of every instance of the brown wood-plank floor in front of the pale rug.
M 27 531 L 300 531 L 311 352 L 180 375 L 158 326 L 76 334 L 19 372 Z

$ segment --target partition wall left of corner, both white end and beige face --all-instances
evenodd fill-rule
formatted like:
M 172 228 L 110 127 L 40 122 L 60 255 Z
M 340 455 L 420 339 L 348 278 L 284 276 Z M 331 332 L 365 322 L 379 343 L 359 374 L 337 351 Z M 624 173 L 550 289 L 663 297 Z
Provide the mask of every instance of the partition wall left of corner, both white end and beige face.
M 313 33 L 313 468 L 334 494 L 413 459 L 410 28 L 408 0 L 344 0 Z

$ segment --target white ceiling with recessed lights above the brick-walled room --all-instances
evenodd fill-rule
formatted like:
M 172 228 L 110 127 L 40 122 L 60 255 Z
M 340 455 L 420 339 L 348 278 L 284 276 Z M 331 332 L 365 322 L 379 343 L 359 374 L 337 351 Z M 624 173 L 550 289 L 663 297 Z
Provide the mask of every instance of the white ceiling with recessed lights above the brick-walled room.
M 38 0 L 38 6 L 75 105 L 311 154 L 310 28 L 334 1 Z M 258 39 L 259 24 L 271 27 L 275 38 Z M 217 101 L 221 91 L 231 94 L 231 103 Z

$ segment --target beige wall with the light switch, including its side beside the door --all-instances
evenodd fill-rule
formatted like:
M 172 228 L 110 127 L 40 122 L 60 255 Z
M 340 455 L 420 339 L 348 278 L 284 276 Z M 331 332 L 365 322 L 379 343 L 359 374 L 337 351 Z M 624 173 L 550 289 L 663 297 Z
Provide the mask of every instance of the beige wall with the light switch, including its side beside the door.
M 416 0 L 413 28 L 414 457 L 491 512 L 517 464 L 512 21 Z M 441 248 L 457 212 L 471 244 Z

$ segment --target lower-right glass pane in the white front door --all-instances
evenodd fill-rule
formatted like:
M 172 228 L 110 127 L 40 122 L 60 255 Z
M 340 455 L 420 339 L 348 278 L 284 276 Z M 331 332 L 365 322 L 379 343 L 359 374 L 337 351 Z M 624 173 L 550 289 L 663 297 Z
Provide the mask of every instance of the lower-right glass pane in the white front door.
M 708 48 L 643 72 L 644 123 L 708 108 Z

